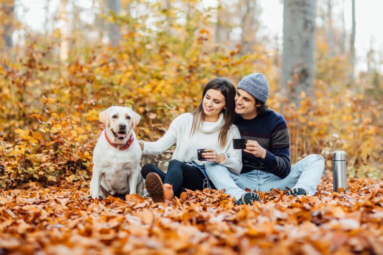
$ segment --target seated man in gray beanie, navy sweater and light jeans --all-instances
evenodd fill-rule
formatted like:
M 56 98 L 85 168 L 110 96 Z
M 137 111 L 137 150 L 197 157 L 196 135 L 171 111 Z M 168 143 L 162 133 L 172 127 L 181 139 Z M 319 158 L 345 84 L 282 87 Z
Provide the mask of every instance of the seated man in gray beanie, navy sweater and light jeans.
M 235 96 L 234 124 L 246 138 L 242 170 L 236 173 L 222 165 L 206 162 L 205 169 L 217 189 L 234 196 L 238 204 L 259 201 L 254 192 L 289 188 L 289 195 L 314 195 L 324 170 L 322 156 L 311 154 L 290 165 L 290 136 L 283 116 L 267 109 L 269 83 L 261 73 L 244 77 Z

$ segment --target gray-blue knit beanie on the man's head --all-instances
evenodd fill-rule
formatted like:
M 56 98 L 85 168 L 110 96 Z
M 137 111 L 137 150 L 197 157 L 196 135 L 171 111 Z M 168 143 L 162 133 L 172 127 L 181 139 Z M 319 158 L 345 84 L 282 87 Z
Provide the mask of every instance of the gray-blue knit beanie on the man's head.
M 267 82 L 266 77 L 261 73 L 245 76 L 238 83 L 237 88 L 246 91 L 262 103 L 266 103 L 269 96 L 269 83 Z

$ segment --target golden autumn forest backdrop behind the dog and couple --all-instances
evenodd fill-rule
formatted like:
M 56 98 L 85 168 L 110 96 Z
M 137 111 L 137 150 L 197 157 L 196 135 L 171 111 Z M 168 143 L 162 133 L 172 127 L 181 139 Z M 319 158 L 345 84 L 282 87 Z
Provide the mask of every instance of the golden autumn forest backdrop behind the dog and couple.
M 0 1 L 1 188 L 31 181 L 86 186 L 102 110 L 132 107 L 142 117 L 138 138 L 156 140 L 196 108 L 209 79 L 237 84 L 253 72 L 265 74 L 270 109 L 289 125 L 292 163 L 318 153 L 329 173 L 333 151 L 345 150 L 349 177 L 382 177 L 382 49 L 355 57 L 358 21 L 345 0 L 308 6 L 314 58 L 290 71 L 281 38 L 259 32 L 259 0 L 79 2 L 61 0 L 52 10 L 46 0 L 44 27 L 35 31 L 15 15 L 22 1 Z M 348 30 L 344 15 L 353 11 Z M 356 69 L 361 61 L 366 68 Z M 310 66 L 309 87 L 298 86 Z

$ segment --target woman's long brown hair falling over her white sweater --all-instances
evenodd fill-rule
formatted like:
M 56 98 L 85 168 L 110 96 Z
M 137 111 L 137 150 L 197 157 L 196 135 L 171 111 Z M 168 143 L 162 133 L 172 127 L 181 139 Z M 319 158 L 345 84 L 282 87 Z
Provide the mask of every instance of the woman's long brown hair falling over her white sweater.
M 194 133 L 197 128 L 202 127 L 202 121 L 205 117 L 205 113 L 203 112 L 203 98 L 208 90 L 214 89 L 219 90 L 225 98 L 226 109 L 223 109 L 221 113 L 223 113 L 223 127 L 219 131 L 218 139 L 221 147 L 226 145 L 227 139 L 227 131 L 229 130 L 231 124 L 234 120 L 235 115 L 235 87 L 233 83 L 223 77 L 214 78 L 209 81 L 202 92 L 201 103 L 198 105 L 197 109 L 193 112 L 193 124 L 190 135 Z

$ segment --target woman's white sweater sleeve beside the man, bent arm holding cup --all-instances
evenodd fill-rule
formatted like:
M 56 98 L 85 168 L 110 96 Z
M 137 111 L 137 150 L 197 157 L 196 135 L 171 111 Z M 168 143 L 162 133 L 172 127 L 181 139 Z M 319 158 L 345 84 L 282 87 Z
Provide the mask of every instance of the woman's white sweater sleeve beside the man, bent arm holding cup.
M 220 165 L 227 167 L 227 169 L 233 174 L 240 174 L 242 170 L 242 150 L 233 148 L 233 138 L 241 138 L 241 134 L 237 127 L 233 127 L 229 129 L 229 132 L 232 132 L 232 136 L 229 139 L 229 145 L 227 147 L 225 156 L 226 159 Z

